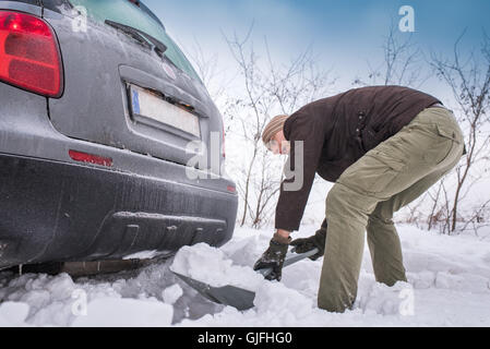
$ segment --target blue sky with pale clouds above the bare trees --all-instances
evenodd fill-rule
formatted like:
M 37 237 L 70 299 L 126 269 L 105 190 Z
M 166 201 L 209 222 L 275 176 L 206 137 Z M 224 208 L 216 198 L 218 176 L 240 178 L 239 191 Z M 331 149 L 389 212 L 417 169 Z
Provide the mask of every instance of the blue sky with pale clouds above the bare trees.
M 226 64 L 229 52 L 223 34 L 244 35 L 254 23 L 254 43 L 262 44 L 266 37 L 274 59 L 292 58 L 311 45 L 322 64 L 337 71 L 345 82 L 364 72 L 367 61 L 382 60 L 383 36 L 392 23 L 397 26 L 402 5 L 414 8 L 413 40 L 428 53 L 450 53 L 464 29 L 463 49 L 478 48 L 483 29 L 490 35 L 489 0 L 144 2 L 184 51 L 192 50 L 199 41 L 207 55 L 218 55 Z

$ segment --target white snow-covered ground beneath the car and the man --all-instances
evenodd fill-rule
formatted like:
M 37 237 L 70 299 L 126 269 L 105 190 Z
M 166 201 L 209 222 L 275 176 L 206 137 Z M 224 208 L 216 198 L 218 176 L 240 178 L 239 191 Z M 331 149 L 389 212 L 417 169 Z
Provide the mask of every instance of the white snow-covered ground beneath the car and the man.
M 140 270 L 79 278 L 0 273 L 0 326 L 490 326 L 490 236 L 447 237 L 399 226 L 408 282 L 377 284 L 364 252 L 355 308 L 332 314 L 316 306 L 322 260 L 263 280 L 251 265 L 272 230 L 236 229 L 220 250 L 198 244 Z M 309 236 L 303 227 L 295 237 Z M 239 312 L 204 300 L 171 270 L 214 286 L 256 291 Z

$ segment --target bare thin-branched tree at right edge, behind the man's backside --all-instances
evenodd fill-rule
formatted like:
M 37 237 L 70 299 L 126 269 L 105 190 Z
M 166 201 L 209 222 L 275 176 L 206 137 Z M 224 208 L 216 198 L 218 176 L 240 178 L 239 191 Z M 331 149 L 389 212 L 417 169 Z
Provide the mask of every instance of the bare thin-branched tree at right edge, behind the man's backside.
M 446 216 L 447 232 L 457 228 L 457 221 L 463 220 L 459 216 L 459 205 L 468 195 L 475 183 L 481 179 L 477 170 L 481 166 L 488 166 L 488 147 L 490 144 L 490 119 L 488 110 L 490 107 L 490 40 L 483 35 L 481 55 L 470 52 L 464 57 L 459 51 L 459 44 L 464 37 L 463 33 L 454 44 L 453 58 L 442 59 L 432 55 L 431 65 L 437 75 L 447 84 L 453 92 L 457 104 L 458 121 L 466 133 L 467 153 L 464 160 L 456 168 L 456 185 L 453 197 L 445 197 L 450 214 Z M 468 221 L 479 217 L 488 203 L 476 209 Z M 467 225 L 466 225 L 467 226 Z

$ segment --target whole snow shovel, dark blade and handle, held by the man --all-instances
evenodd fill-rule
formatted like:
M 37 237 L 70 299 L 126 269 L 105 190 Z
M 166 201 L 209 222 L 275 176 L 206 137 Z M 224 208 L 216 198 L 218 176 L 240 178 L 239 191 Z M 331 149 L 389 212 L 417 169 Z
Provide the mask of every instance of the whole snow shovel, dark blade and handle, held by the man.
M 301 260 L 308 258 L 319 252 L 318 249 L 308 251 L 307 253 L 297 254 L 292 249 L 290 253 L 286 256 L 283 267 L 291 265 Z M 272 268 L 260 269 L 258 273 L 262 274 L 264 277 L 272 273 Z M 222 287 L 213 287 L 205 282 L 198 281 L 188 276 L 175 273 L 179 278 L 181 278 L 186 284 L 195 289 L 201 296 L 211 300 L 212 302 L 231 305 L 240 311 L 253 308 L 253 300 L 255 299 L 255 292 L 246 290 L 240 287 L 227 285 Z

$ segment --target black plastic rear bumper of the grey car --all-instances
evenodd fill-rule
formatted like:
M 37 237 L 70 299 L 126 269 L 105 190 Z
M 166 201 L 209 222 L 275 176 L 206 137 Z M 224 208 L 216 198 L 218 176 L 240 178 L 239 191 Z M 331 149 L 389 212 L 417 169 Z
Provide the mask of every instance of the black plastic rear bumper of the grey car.
M 237 206 L 235 194 L 175 180 L 0 154 L 0 268 L 218 246 Z

